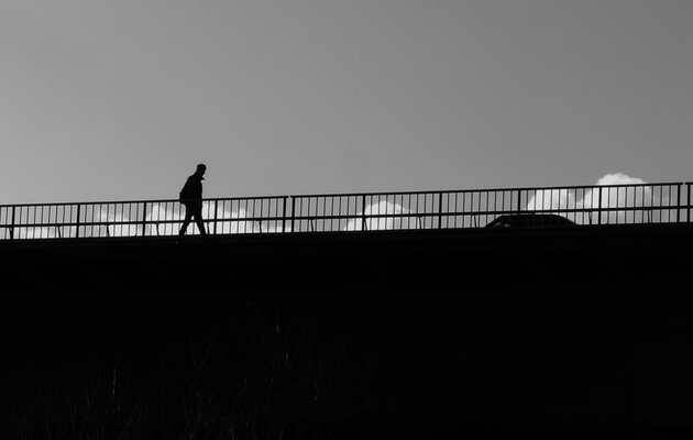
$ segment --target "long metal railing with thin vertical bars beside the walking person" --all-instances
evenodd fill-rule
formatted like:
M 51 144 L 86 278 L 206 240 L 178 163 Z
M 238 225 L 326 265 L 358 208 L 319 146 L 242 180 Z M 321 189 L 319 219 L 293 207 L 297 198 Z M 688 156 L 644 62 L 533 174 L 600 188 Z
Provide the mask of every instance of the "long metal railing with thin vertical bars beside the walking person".
M 691 224 L 693 183 L 211 198 L 210 234 L 482 228 L 502 215 Z M 0 240 L 176 235 L 177 200 L 0 206 Z M 197 234 L 193 223 L 189 233 Z

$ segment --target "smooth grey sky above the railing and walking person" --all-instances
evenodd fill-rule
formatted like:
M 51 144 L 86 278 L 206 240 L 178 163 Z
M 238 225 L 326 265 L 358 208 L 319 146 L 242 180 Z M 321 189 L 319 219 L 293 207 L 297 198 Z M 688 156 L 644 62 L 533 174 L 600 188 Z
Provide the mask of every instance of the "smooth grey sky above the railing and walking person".
M 0 204 L 693 178 L 690 0 L 0 0 Z

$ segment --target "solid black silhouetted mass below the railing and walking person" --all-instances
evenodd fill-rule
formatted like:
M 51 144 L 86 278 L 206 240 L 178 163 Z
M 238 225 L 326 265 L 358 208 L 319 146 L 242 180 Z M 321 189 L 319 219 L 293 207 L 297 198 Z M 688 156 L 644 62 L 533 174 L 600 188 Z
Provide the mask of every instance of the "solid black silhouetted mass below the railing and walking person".
M 692 244 L 685 226 L 0 243 L 2 438 L 690 438 Z

